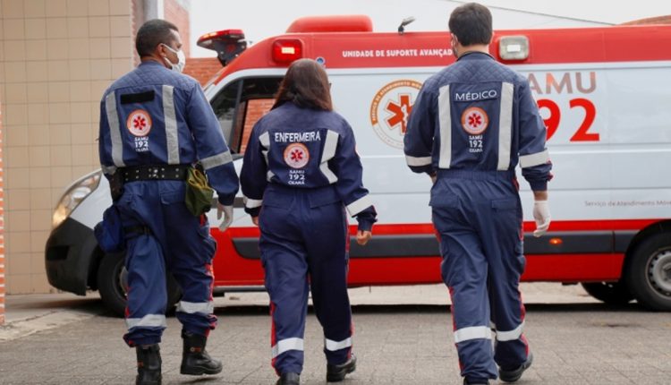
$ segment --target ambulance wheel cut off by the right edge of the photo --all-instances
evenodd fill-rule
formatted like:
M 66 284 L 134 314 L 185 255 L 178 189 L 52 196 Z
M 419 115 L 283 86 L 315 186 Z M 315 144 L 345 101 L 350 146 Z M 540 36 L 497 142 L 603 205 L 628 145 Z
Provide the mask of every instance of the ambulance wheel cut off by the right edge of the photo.
M 671 311 L 671 234 L 650 235 L 638 244 L 624 278 L 640 304 L 652 311 Z

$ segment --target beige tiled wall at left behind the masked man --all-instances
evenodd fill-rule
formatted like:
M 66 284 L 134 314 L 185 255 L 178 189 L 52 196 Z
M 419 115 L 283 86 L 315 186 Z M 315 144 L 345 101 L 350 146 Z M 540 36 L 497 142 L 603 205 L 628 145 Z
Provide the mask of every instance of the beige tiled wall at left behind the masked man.
M 0 0 L 5 285 L 47 293 L 44 247 L 64 187 L 98 167 L 99 99 L 132 69 L 130 0 Z

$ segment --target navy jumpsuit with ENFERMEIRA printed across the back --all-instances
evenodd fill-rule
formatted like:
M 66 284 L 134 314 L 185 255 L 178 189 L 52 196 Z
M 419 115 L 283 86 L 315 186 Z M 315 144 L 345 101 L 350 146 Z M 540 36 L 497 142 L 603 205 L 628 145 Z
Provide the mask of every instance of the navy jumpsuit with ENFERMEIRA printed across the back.
M 345 210 L 370 230 L 376 213 L 361 182 L 352 128 L 335 112 L 285 102 L 251 133 L 240 175 L 245 210 L 259 216 L 276 372 L 302 372 L 309 287 L 329 364 L 352 351 Z

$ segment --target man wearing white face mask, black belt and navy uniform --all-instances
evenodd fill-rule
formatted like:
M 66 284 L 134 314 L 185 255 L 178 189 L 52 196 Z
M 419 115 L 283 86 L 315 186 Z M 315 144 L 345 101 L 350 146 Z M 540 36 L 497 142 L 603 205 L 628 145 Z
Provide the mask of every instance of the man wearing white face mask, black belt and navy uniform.
M 233 220 L 238 177 L 200 84 L 182 74 L 177 27 L 147 21 L 135 46 L 141 64 L 115 81 L 100 103 L 99 155 L 125 233 L 129 291 L 123 339 L 136 348 L 136 383 L 160 384 L 166 270 L 183 293 L 176 310 L 183 325 L 180 372 L 222 370 L 205 350 L 209 331 L 217 325 L 212 303 L 216 243 L 209 235 L 208 207 L 189 204 L 186 182 L 202 181 L 194 177 L 199 172 L 207 175 L 217 191 L 218 210 L 225 213 L 219 227 L 224 231 Z

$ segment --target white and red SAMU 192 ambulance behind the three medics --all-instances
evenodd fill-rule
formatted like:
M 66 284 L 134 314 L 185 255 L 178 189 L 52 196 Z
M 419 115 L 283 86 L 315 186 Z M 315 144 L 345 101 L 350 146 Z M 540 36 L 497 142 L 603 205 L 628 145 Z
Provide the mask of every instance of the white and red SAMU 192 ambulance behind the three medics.
M 421 84 L 454 63 L 447 31 L 374 32 L 367 16 L 305 17 L 247 47 L 242 30 L 202 36 L 223 68 L 205 87 L 240 171 L 251 127 L 273 104 L 286 68 L 322 64 L 335 110 L 352 125 L 364 184 L 378 210 L 374 237 L 350 244 L 349 285 L 441 282 L 427 175 L 413 174 L 403 134 Z M 535 238 L 522 179 L 525 281 L 580 283 L 607 304 L 636 300 L 671 311 L 671 26 L 497 30 L 490 54 L 526 76 L 548 128 L 552 224 Z M 99 171 L 81 177 L 55 208 L 46 246 L 49 282 L 78 295 L 98 290 L 122 313 L 123 254 L 106 255 L 92 228 L 111 203 Z M 263 290 L 259 228 L 235 201 L 217 239 L 219 292 Z M 352 221 L 352 223 L 355 221 Z M 351 226 L 352 235 L 355 226 Z M 171 303 L 179 298 L 169 284 Z

